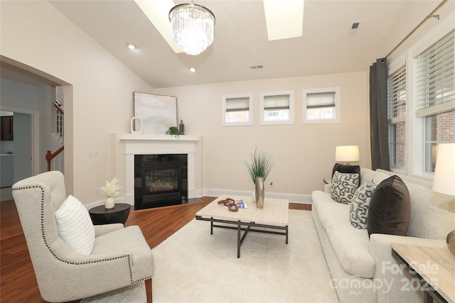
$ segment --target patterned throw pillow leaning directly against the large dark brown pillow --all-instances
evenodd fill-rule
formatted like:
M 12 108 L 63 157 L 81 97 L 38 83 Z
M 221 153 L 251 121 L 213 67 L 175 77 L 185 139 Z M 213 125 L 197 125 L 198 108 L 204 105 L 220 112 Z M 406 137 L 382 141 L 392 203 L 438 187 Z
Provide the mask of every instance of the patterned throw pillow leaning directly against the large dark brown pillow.
M 360 185 L 360 187 L 355 191 L 353 201 L 350 204 L 349 212 L 350 224 L 352 224 L 355 228 L 367 228 L 368 206 L 370 206 L 370 199 L 375 188 L 375 182 L 370 180 Z

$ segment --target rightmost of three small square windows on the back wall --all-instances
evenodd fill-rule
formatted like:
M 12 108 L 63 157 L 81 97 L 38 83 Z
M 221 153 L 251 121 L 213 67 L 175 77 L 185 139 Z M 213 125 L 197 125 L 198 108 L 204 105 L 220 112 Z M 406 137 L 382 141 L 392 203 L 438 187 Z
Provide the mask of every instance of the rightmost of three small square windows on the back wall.
M 304 89 L 302 123 L 340 123 L 340 87 Z

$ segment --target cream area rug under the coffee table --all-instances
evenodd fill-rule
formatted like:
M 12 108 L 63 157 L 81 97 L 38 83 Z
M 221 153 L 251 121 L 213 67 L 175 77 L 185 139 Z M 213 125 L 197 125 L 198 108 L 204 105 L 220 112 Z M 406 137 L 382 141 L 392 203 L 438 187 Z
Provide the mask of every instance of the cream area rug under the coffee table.
M 338 302 L 310 211 L 289 210 L 285 237 L 196 221 L 154 248 L 153 302 Z

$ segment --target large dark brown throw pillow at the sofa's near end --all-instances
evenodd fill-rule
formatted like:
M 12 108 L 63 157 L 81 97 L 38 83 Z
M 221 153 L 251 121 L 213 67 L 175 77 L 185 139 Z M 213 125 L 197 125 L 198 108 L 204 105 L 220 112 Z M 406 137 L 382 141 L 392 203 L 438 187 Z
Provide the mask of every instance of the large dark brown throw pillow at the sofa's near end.
M 371 196 L 368 207 L 368 236 L 387 233 L 405 236 L 410 225 L 410 192 L 397 175 L 382 180 Z

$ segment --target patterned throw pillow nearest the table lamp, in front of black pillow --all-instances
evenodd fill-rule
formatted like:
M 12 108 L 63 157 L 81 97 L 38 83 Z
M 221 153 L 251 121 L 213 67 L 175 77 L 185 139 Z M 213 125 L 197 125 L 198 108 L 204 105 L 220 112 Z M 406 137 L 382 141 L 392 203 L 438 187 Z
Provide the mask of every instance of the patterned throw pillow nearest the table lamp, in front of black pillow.
M 358 174 L 335 172 L 330 187 L 331 198 L 336 202 L 350 204 L 354 197 L 355 189 L 358 188 L 359 182 L 360 175 Z

